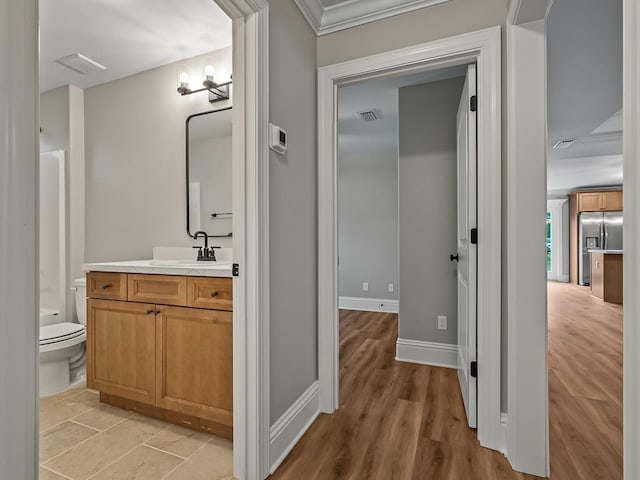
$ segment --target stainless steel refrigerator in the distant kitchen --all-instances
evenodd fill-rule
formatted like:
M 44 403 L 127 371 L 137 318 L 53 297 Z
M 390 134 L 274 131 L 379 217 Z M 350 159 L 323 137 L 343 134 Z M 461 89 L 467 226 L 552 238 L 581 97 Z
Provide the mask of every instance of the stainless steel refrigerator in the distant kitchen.
M 580 257 L 578 283 L 591 283 L 592 250 L 622 250 L 622 212 L 584 212 L 580 214 Z

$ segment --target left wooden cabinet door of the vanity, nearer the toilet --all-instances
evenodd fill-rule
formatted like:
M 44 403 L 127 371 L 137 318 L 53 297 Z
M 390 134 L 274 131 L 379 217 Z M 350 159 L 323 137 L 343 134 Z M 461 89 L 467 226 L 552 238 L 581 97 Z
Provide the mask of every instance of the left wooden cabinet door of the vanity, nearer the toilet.
M 155 305 L 89 299 L 87 385 L 155 402 Z

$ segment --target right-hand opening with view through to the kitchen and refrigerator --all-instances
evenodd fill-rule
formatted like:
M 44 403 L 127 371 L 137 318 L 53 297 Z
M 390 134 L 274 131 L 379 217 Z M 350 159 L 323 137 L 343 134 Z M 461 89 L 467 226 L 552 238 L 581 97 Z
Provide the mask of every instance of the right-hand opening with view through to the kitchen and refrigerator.
M 623 478 L 622 3 L 546 16 L 552 479 Z

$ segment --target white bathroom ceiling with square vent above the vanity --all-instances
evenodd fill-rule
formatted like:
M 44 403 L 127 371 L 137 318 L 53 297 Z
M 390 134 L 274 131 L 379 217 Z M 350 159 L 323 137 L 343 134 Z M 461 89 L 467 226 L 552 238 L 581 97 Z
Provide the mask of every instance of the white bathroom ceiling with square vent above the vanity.
M 231 20 L 213 0 L 40 2 L 40 91 L 89 88 L 231 45 Z M 55 62 L 81 53 L 106 70 Z

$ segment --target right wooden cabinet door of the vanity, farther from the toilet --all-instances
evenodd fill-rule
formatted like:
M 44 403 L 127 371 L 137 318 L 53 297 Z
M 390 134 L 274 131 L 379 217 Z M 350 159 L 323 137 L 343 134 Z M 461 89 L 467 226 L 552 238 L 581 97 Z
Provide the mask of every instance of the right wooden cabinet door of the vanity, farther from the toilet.
M 156 404 L 220 424 L 233 425 L 232 314 L 158 307 Z

